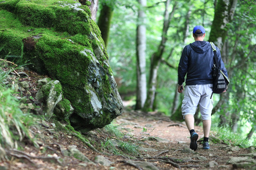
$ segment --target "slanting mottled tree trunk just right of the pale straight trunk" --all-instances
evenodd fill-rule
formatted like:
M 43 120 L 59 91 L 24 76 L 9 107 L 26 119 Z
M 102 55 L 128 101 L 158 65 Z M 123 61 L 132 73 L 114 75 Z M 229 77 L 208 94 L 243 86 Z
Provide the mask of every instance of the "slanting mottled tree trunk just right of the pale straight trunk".
M 175 5 L 172 9 L 172 12 L 169 14 L 168 7 L 170 5 L 170 0 L 166 1 L 166 10 L 164 12 L 164 24 L 163 24 L 163 33 L 162 33 L 162 40 L 158 46 L 157 52 L 152 54 L 151 57 L 151 65 L 150 65 L 150 77 L 148 81 L 148 91 L 147 91 L 147 99 L 144 104 L 143 110 L 144 111 L 152 111 L 153 103 L 155 99 L 155 91 L 156 91 L 156 82 L 157 82 L 157 75 L 158 75 L 158 69 L 160 61 L 162 60 L 165 44 L 167 41 L 167 31 L 170 26 L 171 19 L 174 16 L 174 11 L 176 10 L 177 3 L 175 2 Z

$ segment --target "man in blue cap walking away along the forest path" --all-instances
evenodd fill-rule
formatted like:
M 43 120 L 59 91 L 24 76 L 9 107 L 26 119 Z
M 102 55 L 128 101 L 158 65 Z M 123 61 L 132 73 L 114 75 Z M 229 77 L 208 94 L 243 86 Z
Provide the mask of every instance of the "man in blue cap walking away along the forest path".
M 187 74 L 185 82 L 184 99 L 181 105 L 181 112 L 187 128 L 191 134 L 190 148 L 197 149 L 197 139 L 199 135 L 194 128 L 194 114 L 197 105 L 199 105 L 201 117 L 203 120 L 204 142 L 203 149 L 209 149 L 209 133 L 211 114 L 213 109 L 212 95 L 212 67 L 213 67 L 213 49 L 210 42 L 204 41 L 205 29 L 201 25 L 196 25 L 193 29 L 193 37 L 195 42 L 184 47 L 181 54 L 178 68 L 178 87 L 177 92 L 183 92 L 183 82 Z M 226 76 L 228 73 L 221 59 L 220 49 L 216 47 L 218 63 L 221 70 Z

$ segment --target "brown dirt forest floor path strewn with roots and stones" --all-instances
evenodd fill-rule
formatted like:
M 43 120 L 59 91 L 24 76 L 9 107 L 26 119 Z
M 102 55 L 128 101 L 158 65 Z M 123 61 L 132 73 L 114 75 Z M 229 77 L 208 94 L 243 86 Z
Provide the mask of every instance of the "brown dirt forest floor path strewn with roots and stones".
M 29 72 L 27 74 L 31 75 Z M 35 81 L 35 74 L 27 80 Z M 77 138 L 73 132 L 60 130 L 56 122 L 36 119 L 30 130 L 39 146 L 35 147 L 31 142 L 19 143 L 19 150 L 7 151 L 10 159 L 0 162 L 0 169 L 233 169 L 237 167 L 228 163 L 230 158 L 251 152 L 248 148 L 237 148 L 221 142 L 210 143 L 210 149 L 203 150 L 200 145 L 203 129 L 200 126 L 195 127 L 199 134 L 199 146 L 192 151 L 189 149 L 189 131 L 185 124 L 171 121 L 159 112 L 144 113 L 125 107 L 112 125 L 116 132 L 125 134 L 123 138 L 115 137 L 105 128 L 96 129 L 84 134 L 93 146 L 89 147 L 88 142 Z M 213 133 L 210 135 L 214 136 Z M 108 140 L 136 146 L 138 153 L 133 156 L 115 155 L 113 150 L 120 148 L 117 145 L 114 148 L 107 146 Z M 72 156 L 65 154 L 70 153 L 72 148 L 86 158 L 77 159 L 77 152 Z M 110 164 L 97 163 L 95 158 L 98 155 L 104 156 Z M 255 165 L 249 167 L 254 168 Z

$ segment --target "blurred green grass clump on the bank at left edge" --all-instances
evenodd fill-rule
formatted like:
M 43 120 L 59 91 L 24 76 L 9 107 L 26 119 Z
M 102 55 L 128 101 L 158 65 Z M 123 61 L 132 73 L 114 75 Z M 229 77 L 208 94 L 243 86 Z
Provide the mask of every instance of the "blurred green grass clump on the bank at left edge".
M 5 63 L 2 61 L 0 65 Z M 0 69 L 0 81 L 6 78 L 9 72 Z M 5 149 L 17 148 L 18 142 L 24 137 L 29 139 L 28 126 L 31 124 L 28 115 L 19 109 L 19 101 L 13 96 L 13 90 L 0 85 L 0 159 L 5 157 Z M 32 139 L 31 139 L 32 141 Z

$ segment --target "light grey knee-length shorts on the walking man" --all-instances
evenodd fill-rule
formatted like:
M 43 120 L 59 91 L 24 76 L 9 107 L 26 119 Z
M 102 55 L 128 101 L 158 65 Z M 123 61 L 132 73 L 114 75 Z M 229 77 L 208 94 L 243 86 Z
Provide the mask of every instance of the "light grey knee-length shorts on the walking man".
M 183 118 L 187 114 L 195 114 L 199 105 L 202 120 L 211 120 L 213 109 L 212 84 L 197 84 L 185 86 L 184 99 L 181 105 Z

